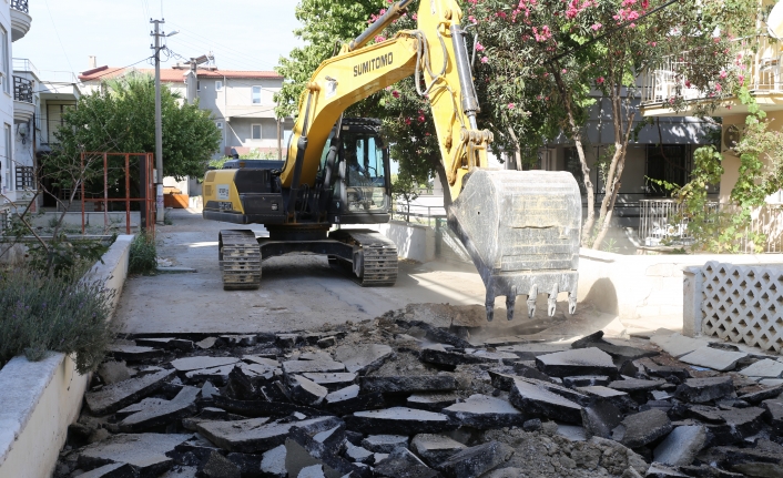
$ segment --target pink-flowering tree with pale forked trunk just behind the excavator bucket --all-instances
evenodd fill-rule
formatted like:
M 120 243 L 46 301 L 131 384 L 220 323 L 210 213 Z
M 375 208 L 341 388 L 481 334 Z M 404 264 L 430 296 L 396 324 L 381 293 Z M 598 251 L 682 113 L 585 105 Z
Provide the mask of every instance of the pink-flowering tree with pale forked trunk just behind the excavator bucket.
M 600 247 L 611 222 L 634 120 L 640 119 L 640 77 L 664 59 L 688 52 L 671 64 L 672 74 L 687 79 L 690 88 L 718 101 L 722 90 L 738 81 L 724 69 L 734 45 L 720 32 L 742 22 L 743 9 L 753 0 L 705 0 L 701 10 L 692 0 L 682 0 L 655 11 L 667 2 L 467 0 L 481 34 L 477 78 L 496 138 L 511 145 L 507 151 L 535 151 L 562 132 L 577 148 L 588 194 L 583 246 Z M 613 125 L 598 217 L 583 146 L 586 109 L 597 100 Z M 515 105 L 512 112 L 509 104 Z

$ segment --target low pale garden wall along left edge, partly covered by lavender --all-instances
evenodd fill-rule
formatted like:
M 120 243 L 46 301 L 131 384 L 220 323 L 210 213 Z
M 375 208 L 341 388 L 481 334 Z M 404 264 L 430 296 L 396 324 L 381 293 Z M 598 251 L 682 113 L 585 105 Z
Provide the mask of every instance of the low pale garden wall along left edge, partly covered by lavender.
M 115 291 L 116 306 L 128 275 L 132 235 L 121 235 L 89 278 Z M 72 424 L 81 411 L 89 376 L 64 354 L 41 362 L 16 357 L 0 369 L 0 478 L 51 476 Z

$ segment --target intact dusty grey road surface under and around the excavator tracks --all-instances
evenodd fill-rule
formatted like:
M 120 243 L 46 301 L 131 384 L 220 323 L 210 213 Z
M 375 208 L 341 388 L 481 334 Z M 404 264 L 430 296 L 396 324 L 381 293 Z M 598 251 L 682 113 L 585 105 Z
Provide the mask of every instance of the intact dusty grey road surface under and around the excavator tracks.
M 217 233 L 236 225 L 204 221 L 189 210 L 170 214 L 174 224 L 157 230 L 159 256 L 197 272 L 129 277 L 118 311 L 123 333 L 283 332 L 372 319 L 410 303 L 484 304 L 484 283 L 469 264 L 401 262 L 397 285 L 363 288 L 331 268 L 325 256 L 314 255 L 265 261 L 261 289 L 226 292 L 217 264 Z M 252 228 L 265 233 L 261 225 Z M 561 295 L 558 316 L 565 319 Z M 539 299 L 542 319 L 546 298 Z M 525 301 L 517 301 L 515 323 L 528 321 L 525 307 Z M 494 324 L 508 325 L 505 298 L 497 301 L 496 317 Z

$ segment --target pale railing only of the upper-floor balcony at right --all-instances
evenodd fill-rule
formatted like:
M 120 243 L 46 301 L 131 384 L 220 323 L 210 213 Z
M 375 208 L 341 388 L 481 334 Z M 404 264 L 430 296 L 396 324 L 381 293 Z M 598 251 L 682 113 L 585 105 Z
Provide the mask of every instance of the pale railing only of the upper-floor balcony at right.
M 743 58 L 751 58 L 750 68 L 741 72 L 745 78 L 745 85 L 752 91 L 783 92 L 783 43 L 769 37 L 736 41 L 753 43 L 753 48 L 749 45 L 742 54 Z M 685 101 L 708 98 L 704 92 L 688 87 L 688 79 L 679 73 L 693 61 L 695 59 L 691 53 L 682 52 L 667 58 L 658 68 L 642 75 L 642 103 L 663 103 L 674 98 Z M 726 70 L 730 68 L 735 65 L 728 64 Z

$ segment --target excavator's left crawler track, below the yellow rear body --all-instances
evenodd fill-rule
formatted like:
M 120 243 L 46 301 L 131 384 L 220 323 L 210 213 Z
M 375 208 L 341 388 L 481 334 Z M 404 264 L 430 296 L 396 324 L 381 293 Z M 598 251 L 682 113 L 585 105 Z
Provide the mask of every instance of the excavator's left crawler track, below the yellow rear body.
M 221 231 L 218 251 L 224 291 L 261 287 L 261 248 L 253 231 Z

